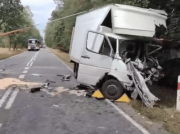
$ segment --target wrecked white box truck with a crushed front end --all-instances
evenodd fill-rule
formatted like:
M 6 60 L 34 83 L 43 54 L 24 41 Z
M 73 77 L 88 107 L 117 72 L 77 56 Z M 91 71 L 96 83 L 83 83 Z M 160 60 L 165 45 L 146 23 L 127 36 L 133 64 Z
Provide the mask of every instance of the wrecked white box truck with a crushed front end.
M 100 88 L 108 99 L 118 99 L 127 90 L 134 99 L 140 95 L 153 106 L 158 98 L 146 82 L 161 77 L 161 67 L 151 54 L 161 48 L 153 36 L 156 26 L 166 27 L 166 19 L 161 10 L 119 4 L 77 16 L 70 46 L 75 77 Z

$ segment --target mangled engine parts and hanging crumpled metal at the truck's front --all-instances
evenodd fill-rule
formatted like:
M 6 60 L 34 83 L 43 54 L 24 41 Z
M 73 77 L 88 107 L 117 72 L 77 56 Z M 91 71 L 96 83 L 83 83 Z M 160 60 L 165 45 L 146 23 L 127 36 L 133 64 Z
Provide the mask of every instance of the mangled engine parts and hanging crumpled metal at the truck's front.
M 125 61 L 134 83 L 134 91 L 131 97 L 136 99 L 139 95 L 146 106 L 153 107 L 159 99 L 149 91 L 146 82 L 151 85 L 153 81 L 157 81 L 163 77 L 159 72 L 162 68 L 157 59 L 153 57 L 146 57 L 144 61 L 142 62 L 140 59 L 136 59 L 135 61 L 126 59 Z M 153 64 L 154 66 L 149 66 L 148 62 L 152 62 L 151 65 Z

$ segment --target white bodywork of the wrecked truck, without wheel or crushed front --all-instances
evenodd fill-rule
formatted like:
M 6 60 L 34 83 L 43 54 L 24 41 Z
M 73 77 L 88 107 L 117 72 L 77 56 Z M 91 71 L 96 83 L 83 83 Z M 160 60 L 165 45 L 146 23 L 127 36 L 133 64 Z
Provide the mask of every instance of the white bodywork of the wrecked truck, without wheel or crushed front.
M 123 83 L 132 83 L 121 57 L 114 59 L 98 53 L 102 42 L 106 36 L 117 40 L 150 39 L 155 34 L 155 25 L 166 27 L 167 17 L 164 15 L 166 13 L 160 10 L 117 4 L 78 16 L 69 52 L 71 61 L 79 64 L 77 80 L 96 85 L 101 77 L 108 73 Z M 91 35 L 90 32 L 93 31 L 105 36 Z M 117 55 L 119 54 L 116 53 L 115 56 Z

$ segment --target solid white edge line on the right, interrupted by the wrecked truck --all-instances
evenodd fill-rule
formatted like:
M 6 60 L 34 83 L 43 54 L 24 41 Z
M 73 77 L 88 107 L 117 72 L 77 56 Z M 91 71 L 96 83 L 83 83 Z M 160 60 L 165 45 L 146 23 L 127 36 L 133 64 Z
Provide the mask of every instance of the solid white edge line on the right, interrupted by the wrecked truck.
M 58 58 L 55 54 L 53 54 L 56 58 Z M 58 58 L 59 59 L 59 58 Z M 59 59 L 61 63 L 63 63 L 70 71 L 73 70 L 66 65 L 61 59 Z M 114 103 L 106 99 L 106 102 L 109 103 L 115 110 L 117 110 L 122 116 L 124 116 L 129 122 L 131 122 L 136 128 L 138 128 L 143 134 L 150 134 L 145 128 L 143 128 L 140 124 L 134 121 L 131 117 L 129 117 L 126 113 L 124 113 L 119 107 L 117 107 Z

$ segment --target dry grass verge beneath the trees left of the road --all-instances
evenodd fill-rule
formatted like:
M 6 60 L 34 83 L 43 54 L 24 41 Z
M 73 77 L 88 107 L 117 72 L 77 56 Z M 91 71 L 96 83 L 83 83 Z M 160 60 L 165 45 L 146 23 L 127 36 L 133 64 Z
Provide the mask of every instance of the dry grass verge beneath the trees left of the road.
M 9 48 L 0 48 L 0 60 L 7 59 L 11 56 L 20 54 L 26 51 L 26 49 L 18 49 L 18 50 L 9 50 Z

